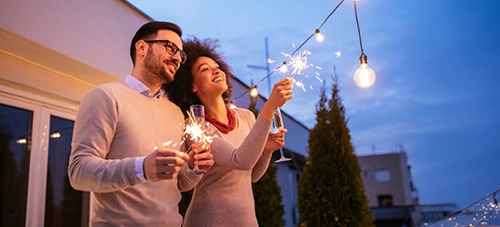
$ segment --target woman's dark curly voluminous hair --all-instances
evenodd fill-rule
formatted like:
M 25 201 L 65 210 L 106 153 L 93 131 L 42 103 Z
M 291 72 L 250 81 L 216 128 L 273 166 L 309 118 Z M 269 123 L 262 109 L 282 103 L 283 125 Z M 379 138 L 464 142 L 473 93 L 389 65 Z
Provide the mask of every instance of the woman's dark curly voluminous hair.
M 226 60 L 223 53 L 217 51 L 220 47 L 218 41 L 210 38 L 200 40 L 196 37 L 189 37 L 183 41 L 183 46 L 185 54 L 187 54 L 185 64 L 181 64 L 175 73 L 174 82 L 162 85 L 168 99 L 178 105 L 185 116 L 187 115 L 190 105 L 201 104 L 198 96 L 193 93 L 193 74 L 191 74 L 191 68 L 198 57 L 205 56 L 219 64 L 220 69 L 225 73 L 227 90 L 222 94 L 222 97 L 225 104 L 228 104 L 231 94 L 233 93 L 233 84 L 231 84 L 230 78 L 232 78 L 234 74 L 231 66 L 225 62 Z

